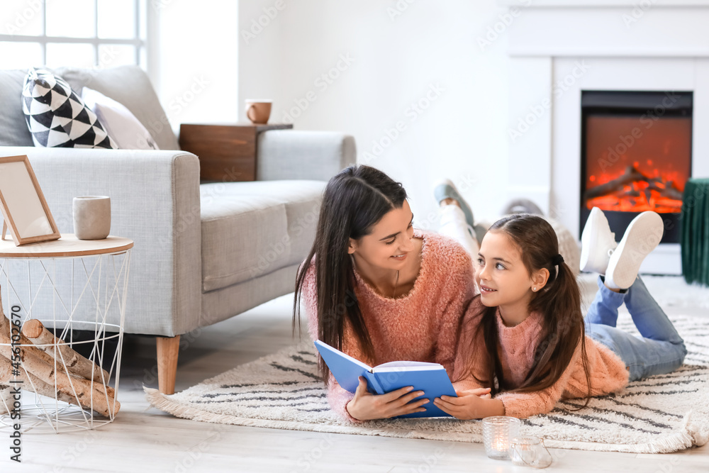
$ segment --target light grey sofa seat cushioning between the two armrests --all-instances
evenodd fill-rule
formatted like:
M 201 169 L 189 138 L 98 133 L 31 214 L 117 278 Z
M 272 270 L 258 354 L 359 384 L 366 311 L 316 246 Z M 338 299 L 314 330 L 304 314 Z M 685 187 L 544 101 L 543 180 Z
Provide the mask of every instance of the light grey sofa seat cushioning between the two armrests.
M 301 180 L 201 184 L 203 291 L 302 262 L 323 189 Z

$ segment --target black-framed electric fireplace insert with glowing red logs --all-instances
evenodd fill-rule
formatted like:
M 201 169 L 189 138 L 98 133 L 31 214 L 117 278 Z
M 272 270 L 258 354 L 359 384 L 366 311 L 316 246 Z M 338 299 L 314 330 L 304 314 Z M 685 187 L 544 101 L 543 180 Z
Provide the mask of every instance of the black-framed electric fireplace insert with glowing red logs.
M 581 91 L 579 233 L 593 207 L 619 241 L 638 213 L 655 211 L 665 223 L 661 243 L 679 243 L 692 103 L 691 91 Z

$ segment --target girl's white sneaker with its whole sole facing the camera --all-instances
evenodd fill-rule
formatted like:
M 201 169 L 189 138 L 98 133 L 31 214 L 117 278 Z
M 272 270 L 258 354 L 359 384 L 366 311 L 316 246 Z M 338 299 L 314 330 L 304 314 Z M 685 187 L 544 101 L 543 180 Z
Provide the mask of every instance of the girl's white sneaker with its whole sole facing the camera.
M 657 247 L 664 233 L 662 218 L 655 212 L 643 212 L 632 219 L 608 262 L 605 285 L 627 289 L 637 277 L 640 264 Z

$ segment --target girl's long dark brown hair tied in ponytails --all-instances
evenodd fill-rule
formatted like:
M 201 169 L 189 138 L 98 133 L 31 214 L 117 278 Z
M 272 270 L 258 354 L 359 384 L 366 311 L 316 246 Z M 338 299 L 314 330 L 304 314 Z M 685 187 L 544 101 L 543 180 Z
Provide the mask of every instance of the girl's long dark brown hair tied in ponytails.
M 547 284 L 532 294 L 528 310 L 542 314 L 540 340 L 534 361 L 524 382 L 512 392 L 540 391 L 552 386 L 569 366 L 576 347 L 581 344 L 581 362 L 586 375 L 586 404 L 591 396 L 591 374 L 586 356 L 586 333 L 584 317 L 581 315 L 581 293 L 574 273 L 565 262 L 554 265 L 554 257 L 559 254 L 559 242 L 554 229 L 540 216 L 521 213 L 501 218 L 491 226 L 489 232 L 506 234 L 519 248 L 522 261 L 531 275 L 542 268 L 549 271 Z M 486 345 L 488 355 L 486 379 L 477 379 L 484 386 L 490 386 L 492 394 L 506 386 L 506 379 L 498 356 L 497 307 L 481 308 L 480 324 L 471 340 L 480 340 Z M 459 347 L 465 349 L 466 347 Z M 479 362 L 479 360 L 470 360 Z M 495 385 L 497 379 L 498 385 Z M 585 404 L 584 404 L 585 406 Z

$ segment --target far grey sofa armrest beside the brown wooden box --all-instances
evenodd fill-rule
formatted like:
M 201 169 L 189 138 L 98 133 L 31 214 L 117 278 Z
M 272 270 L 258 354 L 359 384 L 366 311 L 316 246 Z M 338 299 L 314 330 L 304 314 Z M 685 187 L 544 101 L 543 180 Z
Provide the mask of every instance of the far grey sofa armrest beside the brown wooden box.
M 335 131 L 269 130 L 258 140 L 259 181 L 328 181 L 357 158 L 354 138 Z

